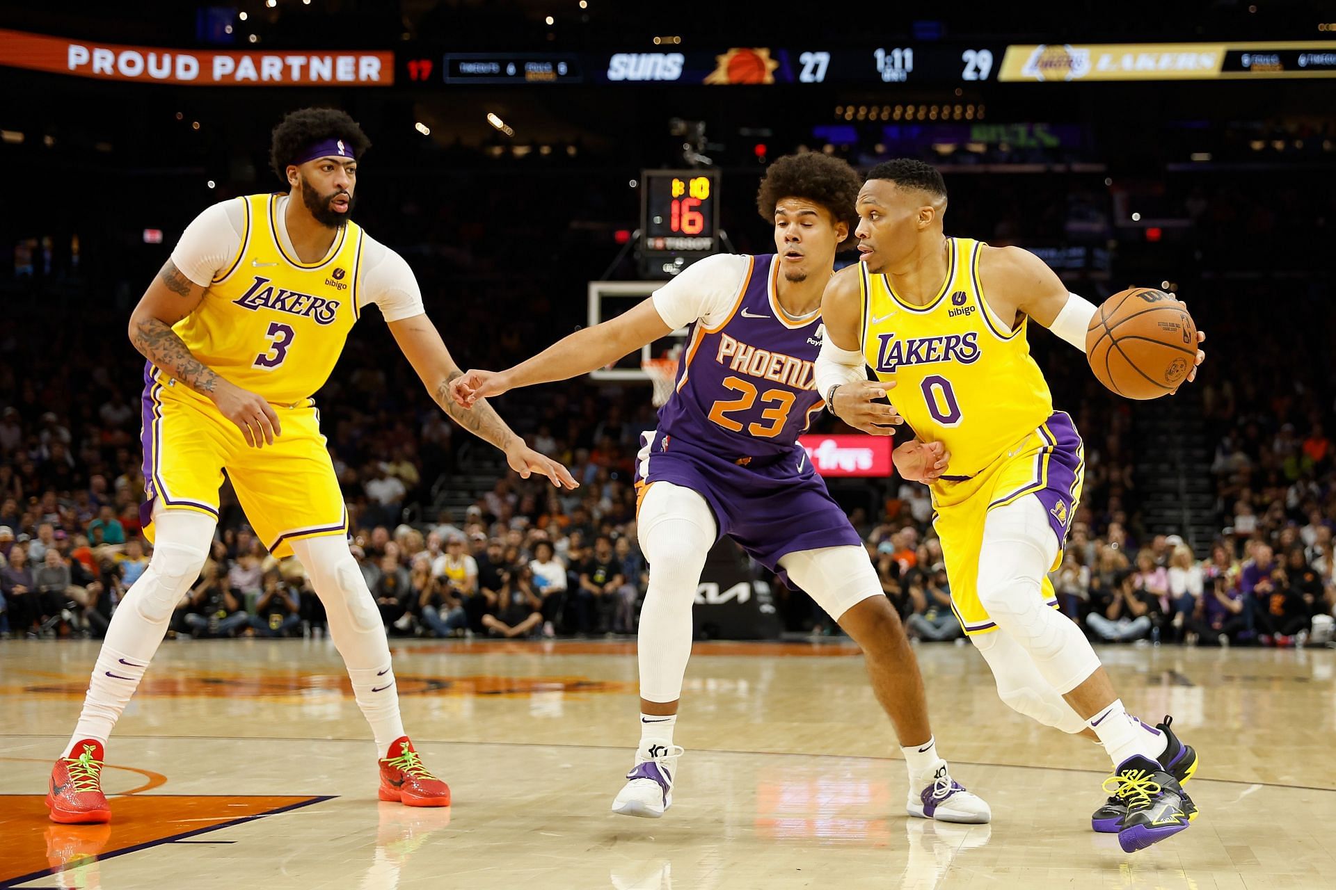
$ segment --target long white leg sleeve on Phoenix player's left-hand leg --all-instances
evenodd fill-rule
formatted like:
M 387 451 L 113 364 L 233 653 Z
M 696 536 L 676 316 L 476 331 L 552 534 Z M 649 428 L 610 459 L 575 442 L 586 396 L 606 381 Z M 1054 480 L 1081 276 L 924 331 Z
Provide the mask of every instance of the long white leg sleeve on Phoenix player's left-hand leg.
M 676 702 L 691 658 L 691 608 L 717 526 L 704 498 L 671 482 L 649 486 L 637 524 L 640 550 L 649 563 L 636 642 L 640 698 Z

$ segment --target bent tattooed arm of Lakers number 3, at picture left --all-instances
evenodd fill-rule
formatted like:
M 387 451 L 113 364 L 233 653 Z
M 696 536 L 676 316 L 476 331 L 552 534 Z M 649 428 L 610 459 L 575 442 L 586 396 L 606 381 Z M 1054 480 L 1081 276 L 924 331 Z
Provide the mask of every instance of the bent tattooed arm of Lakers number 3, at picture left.
M 204 288 L 168 259 L 130 314 L 130 342 L 139 352 L 195 392 L 212 399 L 219 412 L 240 428 L 246 444 L 261 448 L 282 434 L 269 402 L 228 383 L 191 355 L 171 326 L 195 311 Z

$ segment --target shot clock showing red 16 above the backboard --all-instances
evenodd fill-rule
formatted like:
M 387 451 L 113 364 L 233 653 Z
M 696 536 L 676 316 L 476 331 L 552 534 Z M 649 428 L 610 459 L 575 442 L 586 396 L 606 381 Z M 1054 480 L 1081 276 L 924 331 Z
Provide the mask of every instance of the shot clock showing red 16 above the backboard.
M 641 191 L 644 250 L 701 254 L 719 248 L 719 172 L 647 169 Z

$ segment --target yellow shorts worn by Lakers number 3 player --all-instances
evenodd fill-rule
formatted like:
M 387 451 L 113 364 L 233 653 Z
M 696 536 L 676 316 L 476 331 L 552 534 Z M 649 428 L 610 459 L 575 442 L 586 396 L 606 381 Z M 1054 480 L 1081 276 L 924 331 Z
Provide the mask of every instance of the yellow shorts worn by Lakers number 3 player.
M 223 472 L 232 483 L 255 535 L 275 558 L 293 555 L 291 542 L 346 535 L 347 510 L 319 430 L 319 411 L 307 400 L 273 404 L 282 435 L 255 448 L 214 403 L 150 366 L 144 375 L 144 504 L 140 519 L 152 540 L 152 510 L 218 518 Z

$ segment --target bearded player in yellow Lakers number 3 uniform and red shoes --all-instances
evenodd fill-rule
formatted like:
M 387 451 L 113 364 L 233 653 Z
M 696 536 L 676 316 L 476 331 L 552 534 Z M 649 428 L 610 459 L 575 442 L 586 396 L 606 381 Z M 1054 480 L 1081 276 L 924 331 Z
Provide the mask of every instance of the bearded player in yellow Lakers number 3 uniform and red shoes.
M 349 220 L 369 145 L 341 111 L 285 117 L 270 155 L 290 191 L 207 208 L 131 315 L 130 339 L 148 359 L 142 518 L 155 548 L 111 619 L 73 738 L 52 769 L 47 806 L 56 822 L 111 819 L 100 787 L 107 737 L 204 564 L 224 470 L 270 552 L 295 554 L 325 603 L 375 737 L 381 799 L 450 803 L 450 789 L 403 733 L 385 630 L 349 552 L 347 514 L 311 395 L 375 303 L 450 416 L 504 450 L 520 475 L 541 472 L 572 488 L 574 479 L 525 447 L 490 407 L 465 410 L 448 396 L 460 370 L 424 314 L 411 270 Z

